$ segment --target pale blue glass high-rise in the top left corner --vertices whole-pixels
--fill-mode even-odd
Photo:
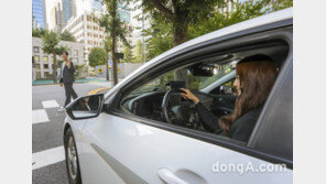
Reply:
[[[32,28],[47,29],[45,0],[32,1]]]

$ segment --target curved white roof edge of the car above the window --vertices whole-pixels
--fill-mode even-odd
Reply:
[[[269,14],[264,14],[258,18],[253,18],[207,34],[204,34],[202,36],[198,36],[196,39],[193,39],[191,41],[187,41],[183,44],[180,44],[162,54],[160,54],[159,56],[152,58],[151,61],[146,62],[145,64],[143,64],[141,67],[139,67],[138,69],[135,69],[133,73],[131,73],[130,75],[128,75],[124,79],[122,79],[118,85],[115,86],[115,88],[118,88],[119,86],[121,86],[124,82],[129,80],[129,78],[131,78],[134,74],[143,71],[144,68],[151,66],[152,64],[154,64],[155,62],[175,53],[178,51],[182,51],[186,47],[189,47],[192,45],[196,45],[198,43],[202,42],[206,42],[213,39],[217,39],[217,37],[221,37],[228,34],[232,34],[236,32],[240,32],[243,30],[249,30],[249,29],[253,29],[257,26],[261,26],[261,25],[265,25],[265,24],[270,24],[270,23],[274,23],[274,22],[280,22],[283,20],[289,20],[293,18],[293,8],[287,8],[284,10],[280,10],[280,11],[275,11]],[[106,97],[110,95],[110,90],[106,94]]]

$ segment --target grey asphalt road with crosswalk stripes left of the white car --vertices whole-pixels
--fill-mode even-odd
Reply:
[[[74,89],[78,96],[88,95],[89,91],[108,86],[105,83],[74,84]],[[101,90],[99,93],[106,93]],[[51,150],[63,147],[63,121],[64,112],[57,112],[58,107],[65,101],[65,91],[58,85],[44,85],[32,87],[33,102],[33,122],[32,122],[32,152],[33,160],[37,154],[40,164],[44,160],[42,167],[32,171],[33,184],[67,184],[67,174],[65,162],[61,159],[58,162],[51,160]],[[46,107],[46,101],[51,107]],[[54,107],[55,106],[55,107]],[[42,116],[39,112],[43,112]],[[46,119],[47,118],[47,119]],[[43,120],[44,119],[44,120]],[[46,158],[46,153],[50,154]],[[62,154],[62,151],[59,151]],[[53,155],[55,158],[57,155]],[[40,159],[41,158],[41,159]],[[62,158],[62,155],[59,155]],[[35,166],[34,165],[34,166]]]

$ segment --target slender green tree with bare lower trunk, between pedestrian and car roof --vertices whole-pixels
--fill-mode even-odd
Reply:
[[[116,47],[117,41],[120,39],[124,44],[129,45],[126,33],[127,30],[123,28],[123,22],[121,22],[118,13],[118,3],[122,4],[128,2],[127,0],[102,0],[101,3],[107,8],[107,14],[104,14],[101,18],[97,19],[100,26],[106,29],[107,35],[111,37],[110,51],[112,56],[113,64],[113,84],[118,84],[118,61],[116,58]],[[107,69],[108,71],[108,69]]]

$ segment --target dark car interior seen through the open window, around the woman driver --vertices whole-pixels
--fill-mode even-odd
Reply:
[[[264,54],[275,62],[280,71],[289,50],[285,42],[273,41],[195,61],[134,88],[121,100],[120,110],[157,121],[157,123],[171,123],[211,132],[213,130],[200,125],[195,105],[184,99],[178,88],[191,89],[200,102],[217,117],[230,115],[237,99],[232,85],[237,62],[254,54]],[[175,79],[174,74],[177,69],[186,72],[186,77],[182,80]]]

